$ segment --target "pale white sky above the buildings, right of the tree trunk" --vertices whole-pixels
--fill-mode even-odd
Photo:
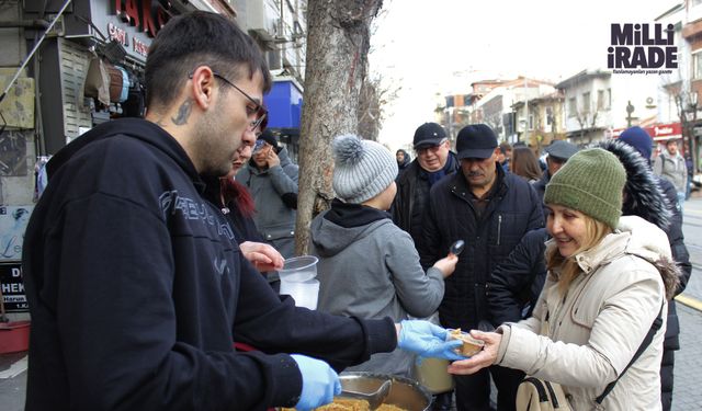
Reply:
[[[682,0],[385,0],[374,21],[371,76],[399,90],[380,140],[411,145],[438,96],[471,82],[528,76],[558,82],[605,68],[612,23],[654,23]]]

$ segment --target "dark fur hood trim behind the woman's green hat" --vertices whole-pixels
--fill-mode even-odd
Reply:
[[[635,148],[619,140],[601,141],[596,147],[616,156],[626,170],[623,215],[638,216],[667,230],[671,218],[670,205],[648,161]]]

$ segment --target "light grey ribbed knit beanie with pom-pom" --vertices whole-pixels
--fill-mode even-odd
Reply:
[[[373,198],[397,176],[397,160],[382,145],[354,135],[338,136],[331,144],[335,156],[333,191],[346,203]]]

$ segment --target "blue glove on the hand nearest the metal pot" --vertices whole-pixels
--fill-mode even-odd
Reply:
[[[341,393],[339,376],[329,364],[301,354],[291,355],[303,375],[303,392],[295,409],[307,411],[333,401]]]

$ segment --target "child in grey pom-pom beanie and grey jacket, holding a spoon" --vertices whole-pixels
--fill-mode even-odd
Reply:
[[[353,135],[335,138],[332,149],[337,198],[310,228],[310,253],[319,258],[317,310],[394,321],[431,316],[457,258],[424,273],[411,237],[385,212],[397,192],[389,150]],[[409,376],[412,363],[411,354],[395,350],[348,369]]]

